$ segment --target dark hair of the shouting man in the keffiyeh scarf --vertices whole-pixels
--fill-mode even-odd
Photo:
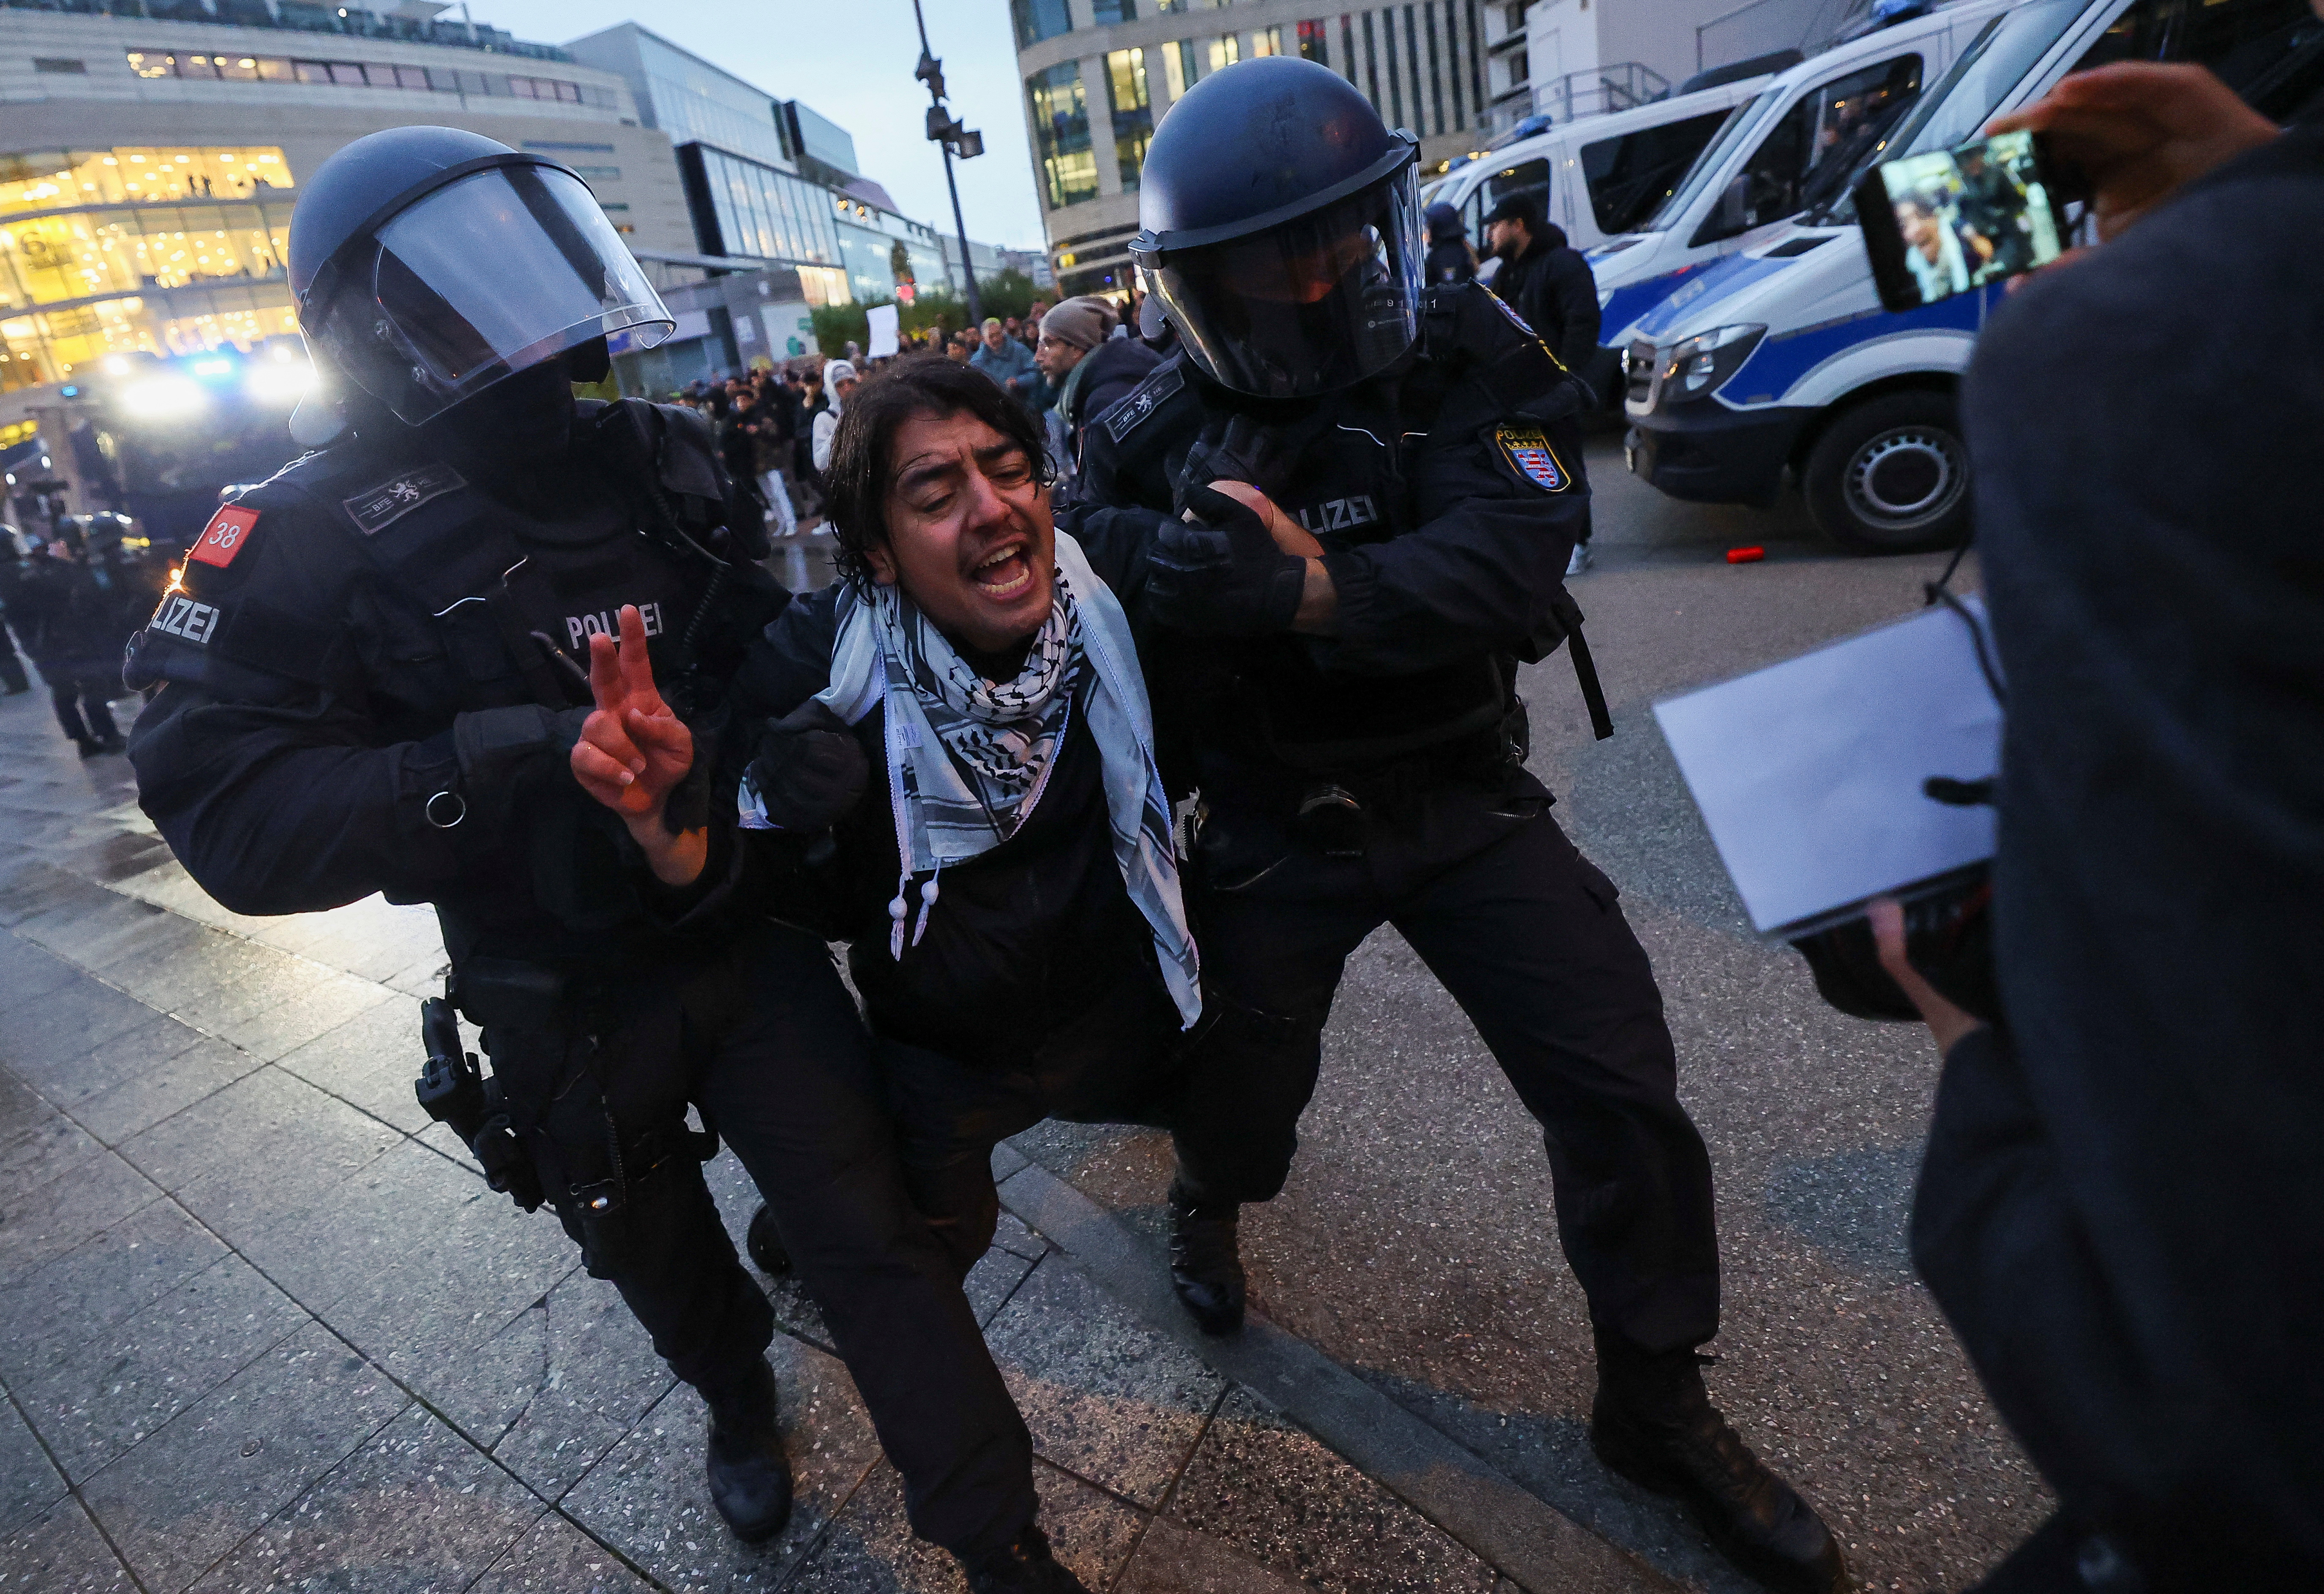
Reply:
[[[855,388],[839,411],[832,435],[832,467],[823,472],[823,497],[839,544],[839,574],[869,586],[865,548],[888,541],[888,486],[895,479],[895,435],[913,416],[971,414],[1013,441],[1032,460],[1041,486],[1055,479],[1041,421],[974,365],[920,353],[897,360]]]

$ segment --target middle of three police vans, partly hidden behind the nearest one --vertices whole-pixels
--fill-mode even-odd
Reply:
[[[1957,0],[1908,14],[1771,79],[1634,232],[1590,251],[1599,342],[1629,328],[1720,260],[1845,195],[1848,177],[1952,67],[1978,30],[2022,0]]]

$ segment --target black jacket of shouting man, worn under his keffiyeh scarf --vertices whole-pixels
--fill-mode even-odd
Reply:
[[[1113,588],[1141,644],[1146,541],[1157,516],[1113,509],[1067,511],[1097,576]],[[839,588],[786,609],[751,651],[734,688],[734,723],[746,734],[790,713],[832,681]],[[1143,653],[1143,646],[1141,646]],[[1088,676],[1085,676],[1088,678]],[[1041,1043],[1125,981],[1160,985],[1153,932],[1122,888],[1113,860],[1097,741],[1078,704],[1039,802],[990,853],[941,871],[927,932],[920,883],[906,892],[911,918],[902,960],[888,953],[888,902],[897,895],[895,816],[888,806],[885,711],[855,725],[871,781],[862,802],[832,827],[837,853],[809,867],[806,839],[744,832],[737,892],[760,911],[834,941],[848,941],[848,969],[874,1029],[981,1067],[1002,1067]],[[720,783],[732,790],[732,783]]]

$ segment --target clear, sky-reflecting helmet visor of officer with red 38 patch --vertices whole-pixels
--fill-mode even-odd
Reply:
[[[546,165],[446,184],[335,265],[311,335],[407,425],[593,337],[676,328],[588,186]]]

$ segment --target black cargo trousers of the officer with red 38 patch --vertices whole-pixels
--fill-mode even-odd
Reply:
[[[674,978],[583,992],[562,1025],[488,1022],[486,1048],[567,1234],[679,1378],[716,1385],[774,1338],[688,1143],[695,1104],[772,1208],[913,1529],[957,1554],[1023,1534],[1032,1438],[904,1190],[869,1036],[823,941],[753,925]],[[609,1180],[623,1199],[600,1215]]]

